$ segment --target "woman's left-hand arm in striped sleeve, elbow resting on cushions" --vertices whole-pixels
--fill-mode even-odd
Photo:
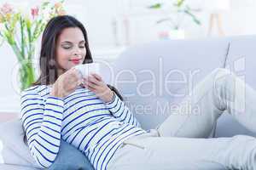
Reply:
[[[21,121],[29,150],[41,167],[49,167],[61,143],[61,122],[64,102],[49,96],[44,100],[36,90],[21,94]]]

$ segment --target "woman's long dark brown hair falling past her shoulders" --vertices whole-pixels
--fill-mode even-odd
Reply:
[[[58,78],[57,72],[57,62],[55,58],[55,48],[58,37],[65,28],[76,27],[79,28],[84,34],[86,55],[83,64],[92,63],[93,59],[91,57],[89,42],[87,37],[87,31],[85,30],[83,24],[70,15],[56,16],[49,20],[46,27],[44,28],[42,41],[41,41],[41,51],[39,56],[39,69],[40,75],[36,82],[32,83],[32,86],[36,85],[49,85],[53,84]],[[119,91],[113,86],[108,85],[108,88],[113,90],[115,94],[119,96],[119,99],[123,100]],[[26,142],[26,135],[24,136],[24,142]]]

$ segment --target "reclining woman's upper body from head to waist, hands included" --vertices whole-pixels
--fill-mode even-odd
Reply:
[[[41,75],[21,96],[27,143],[41,167],[55,161],[64,139],[90,156],[94,167],[104,169],[122,141],[145,132],[130,112],[117,111],[123,103],[101,77],[93,75],[89,80],[96,84],[84,80],[80,87],[73,66],[90,62],[84,26],[71,16],[49,20],[42,37]]]

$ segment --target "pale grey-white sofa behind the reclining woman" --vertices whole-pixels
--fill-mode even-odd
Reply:
[[[180,102],[189,88],[217,67],[229,68],[241,78],[245,77],[246,82],[256,89],[256,78],[253,76],[256,71],[255,44],[256,36],[150,42],[129,48],[120,54],[113,65],[104,65],[102,76],[105,82],[113,84],[125,96],[126,104],[142,126],[145,129],[154,128],[171,114],[165,110],[165,105]],[[21,147],[20,128],[20,124],[14,124],[14,128],[1,136],[16,135],[13,142]],[[221,116],[216,128],[212,129],[214,137],[235,134],[256,136],[241,127],[229,114]],[[24,149],[24,145],[22,147],[25,150],[23,158],[17,156],[17,159],[23,159],[21,164],[28,167],[18,169],[35,169],[31,156],[27,155],[28,150]],[[17,155],[11,152],[13,150],[3,153],[6,163],[12,163],[10,155]],[[15,167],[0,165],[0,169]]]

